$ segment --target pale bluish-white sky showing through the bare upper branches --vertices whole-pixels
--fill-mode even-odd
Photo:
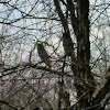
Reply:
[[[12,0],[13,1],[13,3],[14,3],[14,1],[16,1],[16,0]],[[22,11],[24,11],[25,13],[26,12],[30,12],[30,10],[31,10],[31,7],[33,7],[33,6],[30,6],[29,7],[29,3],[30,4],[32,4],[32,2],[34,2],[34,1],[37,1],[37,0],[28,0],[26,2],[25,2],[25,0],[18,0],[18,2],[19,3],[21,3],[21,6],[22,6]],[[48,2],[48,0],[45,0],[46,2]],[[90,4],[92,3],[92,4],[95,4],[95,1],[96,0],[90,0]],[[102,1],[105,1],[105,0],[97,0],[97,2],[96,2],[96,4],[100,4],[100,3],[102,3]],[[108,3],[110,3],[110,1],[109,0],[106,0]],[[18,3],[16,2],[16,3]],[[21,7],[21,6],[19,6],[19,7]],[[26,6],[25,8],[24,8],[24,6]],[[46,16],[47,15],[47,13],[45,12],[45,11],[42,11],[42,8],[43,8],[44,6],[43,6],[43,2],[41,2],[41,4],[37,4],[37,7],[35,8],[35,10],[37,10],[36,12],[35,12],[35,10],[34,11],[32,11],[32,13],[35,13],[34,15],[35,16]],[[105,6],[103,8],[106,8],[107,6]],[[19,12],[19,11],[16,11],[16,10],[14,10],[14,11],[12,11],[12,8],[10,8],[11,9],[11,11],[6,11],[8,9],[8,7],[3,7],[2,4],[0,4],[0,21],[2,21],[1,19],[6,19],[7,20],[7,15],[9,15],[8,16],[8,19],[9,20],[14,20],[14,19],[18,19],[18,18],[21,18],[21,12]],[[103,10],[103,9],[102,9]],[[95,11],[94,13],[91,13],[92,14],[92,21],[94,20],[96,20],[96,18],[100,14],[100,12],[102,11],[101,9],[99,10],[99,12],[98,11]],[[6,12],[3,12],[3,11],[6,11]],[[108,10],[108,16],[110,16],[110,13],[109,13],[109,10]],[[108,22],[109,22],[109,19],[108,19],[108,16],[105,16],[105,14],[102,14],[101,15],[101,19],[98,19],[98,21],[97,22],[95,22],[95,24],[96,25],[92,25],[92,28],[91,28],[91,42],[94,42],[94,41],[96,41],[97,40],[97,37],[96,36],[98,36],[98,38],[103,38],[103,36],[106,37],[106,40],[107,40],[107,44],[108,43],[110,43],[110,28],[108,26]],[[18,36],[21,36],[22,34],[24,34],[25,35],[25,33],[29,33],[29,34],[31,34],[31,35],[29,35],[29,36],[31,36],[31,37],[26,37],[26,38],[24,38],[24,40],[26,40],[26,42],[28,43],[30,43],[30,41],[31,41],[31,38],[33,37],[34,40],[35,40],[35,37],[37,38],[37,37],[41,37],[41,40],[42,41],[44,41],[45,38],[47,38],[47,37],[45,37],[45,36],[47,36],[47,34],[51,34],[51,35],[53,35],[53,37],[55,36],[54,35],[54,33],[56,33],[56,32],[58,32],[57,34],[59,34],[61,33],[61,28],[59,28],[59,25],[56,25],[56,24],[58,24],[58,23],[55,23],[55,22],[50,22],[48,24],[46,24],[45,22],[44,22],[45,20],[30,20],[30,19],[26,19],[26,20],[21,20],[21,21],[19,21],[19,22],[15,22],[15,23],[13,23],[14,25],[16,25],[16,26],[21,26],[21,28],[23,28],[23,26],[28,26],[28,29],[30,29],[30,30],[24,30],[24,31],[20,31],[20,29],[18,29],[18,28],[15,28],[15,26],[9,26],[9,34],[12,34],[12,33],[16,33],[18,31],[20,31],[20,32],[18,32],[18,34],[16,35],[13,35],[12,36],[12,38],[15,38],[15,37],[18,37]],[[41,23],[40,23],[41,22]],[[98,22],[99,22],[99,24],[100,23],[102,23],[103,25],[102,26],[99,26],[99,24],[98,24]],[[36,24],[34,24],[34,23],[36,23]],[[30,26],[29,26],[30,25]],[[46,26],[45,26],[46,25]],[[48,29],[48,25],[51,25],[51,32],[53,32],[53,33],[50,33],[50,31],[46,33],[45,32],[45,30],[46,29]],[[98,28],[99,26],[99,28]],[[33,30],[33,29],[35,29],[35,30]],[[2,26],[0,25],[0,30],[2,30]],[[28,36],[28,35],[26,35]],[[59,36],[59,35],[58,35]],[[25,36],[24,36],[25,37]],[[44,38],[45,37],[45,38]],[[48,37],[50,37],[50,35],[48,35]],[[56,37],[56,36],[55,36]],[[51,41],[53,41],[54,43],[56,43],[57,42],[57,38],[55,40],[55,37],[53,38],[53,40],[51,40]],[[109,41],[109,42],[108,42]],[[24,42],[25,43],[25,47],[23,47],[23,44],[21,44],[21,48],[22,50],[24,50],[25,51],[25,53],[28,53],[29,52],[29,50],[31,50],[30,48],[30,45],[28,45],[28,43],[26,42]],[[11,44],[11,43],[10,43]],[[14,44],[14,43],[12,43],[12,44]],[[31,43],[30,43],[31,44]],[[14,44],[15,45],[15,44]],[[91,50],[94,50],[94,45],[91,46]],[[14,50],[15,48],[13,48],[13,52],[14,52]],[[98,51],[97,51],[98,52]],[[24,53],[24,52],[23,52]],[[99,53],[99,52],[98,52]],[[18,55],[18,54],[16,54]],[[95,54],[94,54],[95,55]],[[20,56],[20,55],[19,55]],[[96,54],[96,56],[97,56],[97,54]],[[23,59],[25,59],[25,57],[26,57],[26,54],[23,54]]]

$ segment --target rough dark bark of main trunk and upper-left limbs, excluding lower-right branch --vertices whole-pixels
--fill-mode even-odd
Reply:
[[[61,0],[64,1],[64,0]],[[54,0],[56,11],[59,15],[65,33],[70,37],[67,19],[64,16],[59,6],[59,0]],[[91,74],[90,62],[90,41],[89,41],[89,0],[77,0],[77,10],[72,0],[65,3],[70,13],[72,26],[77,40],[77,62],[72,63],[72,70],[75,76],[75,88],[77,91],[77,110],[85,110],[91,106],[92,94],[96,89],[95,78]],[[77,14],[75,13],[77,11]],[[72,38],[72,37],[70,37]],[[73,48],[74,50],[74,48]],[[73,57],[72,57],[73,59]],[[73,61],[72,61],[73,62]],[[75,109],[76,110],[76,109]]]

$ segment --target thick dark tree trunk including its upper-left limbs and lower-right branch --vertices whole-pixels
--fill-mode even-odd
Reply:
[[[70,55],[77,102],[76,105],[69,107],[69,109],[105,110],[106,103],[109,102],[110,99],[110,97],[106,97],[107,95],[109,96],[110,92],[110,69],[108,70],[108,77],[106,77],[103,87],[100,88],[96,94],[97,85],[89,66],[89,0],[75,0],[75,3],[73,0],[54,0],[54,4],[64,28],[64,33],[67,35],[65,36],[65,40],[69,40],[68,43],[73,42],[70,36],[70,29],[68,26],[69,19],[77,41],[77,55],[75,56],[75,53]],[[69,13],[69,18],[64,14],[64,10],[62,10],[61,4],[65,6],[67,13]],[[69,45],[66,43],[64,43],[65,45],[63,46]],[[74,52],[73,46],[70,50]],[[102,101],[103,99],[105,101]]]

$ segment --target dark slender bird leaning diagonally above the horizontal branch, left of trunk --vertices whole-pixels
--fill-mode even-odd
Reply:
[[[37,53],[42,62],[44,62],[48,67],[51,67],[50,56],[43,45],[43,43],[37,43]]]

